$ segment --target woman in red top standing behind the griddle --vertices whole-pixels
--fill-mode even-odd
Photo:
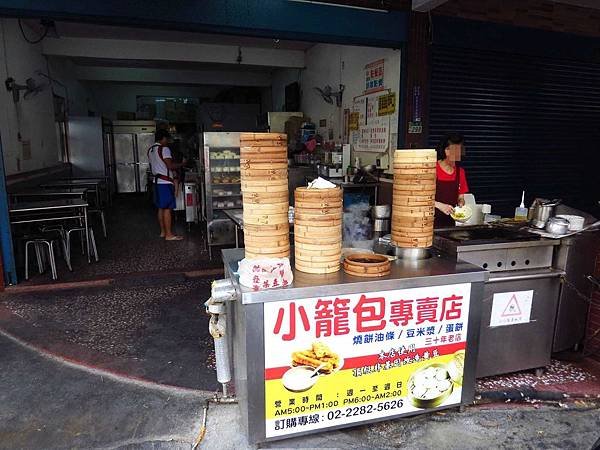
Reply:
[[[465,170],[457,165],[464,152],[464,137],[457,133],[447,134],[437,146],[435,222],[436,228],[454,226],[450,214],[454,206],[463,206],[469,192]]]

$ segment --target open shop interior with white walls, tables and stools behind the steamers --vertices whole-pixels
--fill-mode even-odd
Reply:
[[[226,152],[207,154],[222,133],[287,133],[290,192],[319,174],[352,184],[368,167],[348,201],[375,204],[378,178],[391,176],[398,49],[34,19],[2,25],[15,83],[2,94],[11,206],[86,200],[92,234],[88,252],[82,231],[64,239],[53,227],[13,223],[13,283],[220,267],[220,249],[243,245],[226,214],[241,208],[239,156],[232,153],[228,164]],[[381,95],[387,110],[373,111],[371,103],[367,111]],[[366,129],[356,122],[366,122],[365,114],[380,115],[377,145],[361,140]],[[171,135],[175,161],[188,161],[175,213],[179,242],[158,237],[152,204],[146,152],[161,128]],[[349,142],[351,154],[347,145],[343,151]],[[26,251],[32,237],[51,245]]]

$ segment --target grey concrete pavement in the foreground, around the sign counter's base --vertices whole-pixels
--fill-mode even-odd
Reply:
[[[1,449],[190,449],[209,393],[136,385],[40,356],[0,336]],[[235,405],[211,405],[200,448],[248,445]],[[279,441],[262,448],[591,449],[600,410],[492,405]]]

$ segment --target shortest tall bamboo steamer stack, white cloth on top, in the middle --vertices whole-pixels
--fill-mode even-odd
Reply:
[[[300,187],[295,191],[296,270],[333,273],[342,255],[342,190]]]

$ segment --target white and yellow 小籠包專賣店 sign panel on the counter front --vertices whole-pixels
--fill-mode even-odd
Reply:
[[[459,404],[463,365],[446,367],[464,361],[470,292],[465,283],[265,303],[266,436]]]

